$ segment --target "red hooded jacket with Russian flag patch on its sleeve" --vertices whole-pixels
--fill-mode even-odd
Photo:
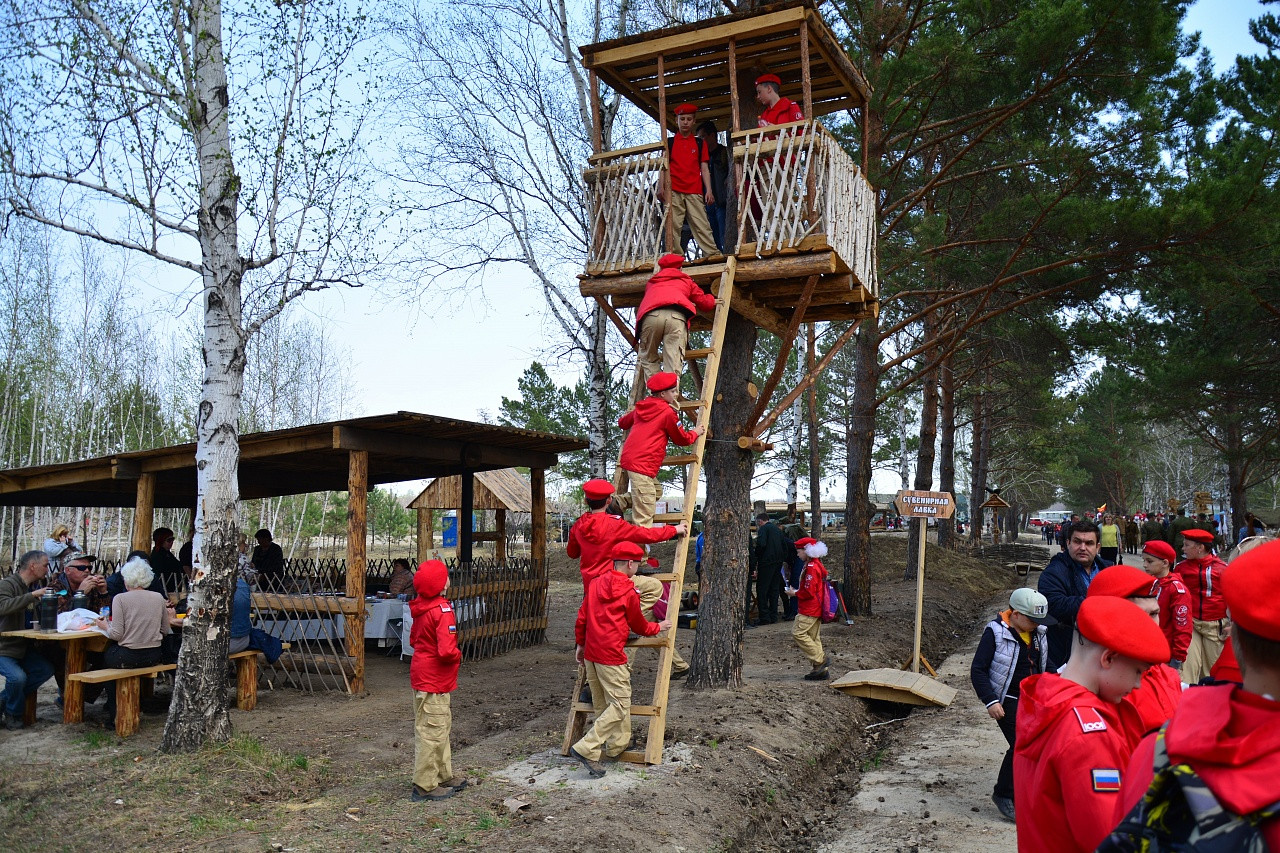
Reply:
[[[1024,679],[1014,738],[1019,853],[1097,848],[1115,826],[1130,752],[1119,706],[1056,672]]]

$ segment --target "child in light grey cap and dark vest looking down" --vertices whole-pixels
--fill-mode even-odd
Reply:
[[[1018,697],[1023,679],[1043,672],[1048,666],[1048,639],[1044,626],[1055,624],[1048,615],[1048,599],[1034,589],[1023,587],[1009,597],[1009,610],[987,624],[978,640],[969,681],[987,713],[1000,726],[1009,749],[1000,762],[991,802],[1000,813],[1014,821],[1014,742],[1018,731]]]

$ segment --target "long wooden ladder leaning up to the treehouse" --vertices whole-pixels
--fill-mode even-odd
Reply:
[[[733,273],[737,269],[737,259],[730,255],[724,259],[724,272],[721,273],[719,283],[716,286],[716,314],[712,319],[710,346],[700,350],[686,350],[686,361],[704,361],[701,397],[695,401],[684,401],[678,406],[681,411],[696,410],[698,425],[703,428],[703,434],[698,437],[694,447],[687,453],[667,456],[663,465],[689,466],[685,478],[685,505],[680,512],[659,512],[653,516],[654,523],[684,521],[687,532],[692,532],[694,502],[698,498],[698,478],[703,470],[703,451],[707,446],[707,428],[710,424],[712,401],[716,400],[716,378],[719,375],[719,356],[724,345],[724,327],[728,323],[728,313],[733,300]],[[677,538],[676,558],[669,573],[650,575],[655,580],[671,584],[667,613],[672,617],[671,630],[666,635],[640,637],[627,643],[627,648],[657,648],[658,674],[653,688],[653,704],[632,704],[631,717],[649,717],[649,733],[645,740],[644,752],[627,751],[620,757],[621,761],[634,763],[660,765],[662,747],[667,736],[667,694],[671,689],[671,662],[676,651],[676,629],[680,617],[680,596],[685,585],[685,565],[689,562],[689,546],[692,535]],[[586,671],[577,669],[577,679],[573,684],[573,697],[568,713],[568,724],[564,726],[564,743],[561,754],[567,756],[572,747],[586,729],[586,717],[594,708],[590,702],[579,702],[582,685],[586,683]]]

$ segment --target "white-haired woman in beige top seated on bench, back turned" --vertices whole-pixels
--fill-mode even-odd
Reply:
[[[154,576],[151,565],[141,557],[133,557],[120,569],[124,592],[111,601],[111,621],[97,620],[111,639],[102,654],[105,666],[132,670],[160,662],[161,643],[178,621],[169,599],[147,589]],[[108,690],[106,719],[115,720],[114,683]]]

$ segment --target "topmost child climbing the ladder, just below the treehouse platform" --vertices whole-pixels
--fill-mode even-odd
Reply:
[[[640,401],[645,383],[659,370],[680,375],[685,369],[689,324],[699,311],[716,310],[716,297],[689,278],[681,269],[684,263],[684,255],[659,257],[658,272],[645,284],[644,298],[636,309],[637,361],[631,383],[632,403]]]

